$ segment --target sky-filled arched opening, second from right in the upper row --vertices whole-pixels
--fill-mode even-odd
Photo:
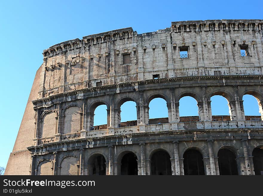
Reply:
[[[210,98],[213,121],[230,121],[231,109],[227,98],[214,95]]]

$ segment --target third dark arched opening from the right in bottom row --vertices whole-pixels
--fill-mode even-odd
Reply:
[[[195,149],[184,152],[184,175],[204,175],[202,154]]]

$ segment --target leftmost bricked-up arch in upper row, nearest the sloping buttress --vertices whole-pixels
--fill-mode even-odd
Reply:
[[[58,113],[56,110],[45,110],[41,114],[40,138],[51,137],[56,134]]]

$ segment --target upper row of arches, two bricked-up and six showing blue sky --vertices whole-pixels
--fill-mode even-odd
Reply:
[[[246,91],[245,93],[246,95],[244,95],[243,97],[250,96],[250,101],[244,99],[245,100],[244,107],[246,107],[248,110],[250,110],[251,108],[255,108],[253,111],[257,111],[257,110],[259,111],[253,113],[254,117],[249,118],[249,120],[250,119],[261,120],[263,118],[262,101],[260,101],[262,100],[261,95],[258,92],[253,92],[253,91]],[[178,116],[180,118],[178,119],[178,122],[189,121],[190,118],[189,119],[187,118],[186,120],[183,121],[182,120],[183,118],[181,118],[183,116],[195,116],[193,121],[202,121],[201,116],[199,114],[199,112],[200,111],[202,112],[203,110],[202,104],[199,103],[201,98],[197,94],[189,91],[181,93],[180,95],[178,95],[178,97],[180,99],[178,100],[178,102],[175,102],[175,107],[178,107]],[[232,95],[230,95],[225,91],[216,91],[210,94],[208,97],[209,97],[208,100],[210,101],[207,101],[207,105],[208,105],[208,110],[210,110],[211,112],[211,115],[220,115],[219,116],[220,118],[213,116],[209,117],[211,118],[212,121],[234,119],[232,113],[233,110],[236,109],[234,108],[236,107],[236,105],[235,103],[233,103],[233,100],[235,98],[233,98]],[[220,99],[218,99],[219,97],[221,98],[221,101]],[[186,99],[185,102],[184,99]],[[240,109],[241,111],[244,112],[243,101],[239,101],[239,102],[240,102]],[[225,107],[225,112],[222,114],[213,113],[215,111],[213,107],[216,106],[217,108],[215,108],[215,110]],[[63,129],[60,130],[60,133],[62,134],[75,133],[82,130],[83,128],[82,125],[83,123],[85,123],[82,107],[80,107],[77,104],[71,103],[70,105],[68,105],[67,107],[61,110],[62,112],[60,115],[56,109],[45,110],[44,112],[41,113],[39,117],[41,118],[40,119],[41,125],[39,128],[40,130],[37,133],[37,135],[39,135],[38,136],[39,138],[45,138],[55,135],[57,132],[59,132],[58,125],[60,127],[63,126]],[[93,103],[88,104],[86,110],[88,111],[85,112],[86,118],[88,118],[86,119],[86,121],[88,122],[87,123],[88,127],[86,128],[86,130],[106,129],[107,127],[109,127],[111,113],[114,113],[114,121],[115,121],[114,125],[111,126],[114,127],[127,126],[127,125],[134,126],[141,123],[140,99],[135,99],[130,96],[125,96],[124,98],[121,98],[120,101],[117,102],[117,104],[114,104],[114,108],[112,109],[107,101],[97,100],[94,101]],[[114,111],[111,112],[111,110]],[[121,110],[123,110],[123,112]],[[226,111],[228,111],[228,114]],[[153,93],[150,96],[150,98],[147,99],[147,104],[144,105],[143,112],[145,113],[144,114],[146,119],[145,124],[158,124],[158,123],[170,122],[169,115],[171,116],[171,103],[169,101],[169,98],[167,97],[167,95],[164,95],[163,93]],[[252,115],[252,114],[248,114],[248,115]],[[225,116],[226,118],[224,118],[223,116]],[[159,119],[158,121],[155,121],[155,120],[151,120],[150,118],[166,118],[166,119],[162,119],[162,120]],[[122,125],[121,122],[123,122],[123,119],[125,119],[124,121],[134,121],[134,122],[130,122],[126,124],[124,123],[124,125]],[[95,126],[97,125],[105,125],[105,126],[100,126],[96,128]]]

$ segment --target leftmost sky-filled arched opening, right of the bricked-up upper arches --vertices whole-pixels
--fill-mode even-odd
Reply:
[[[107,129],[107,106],[101,104],[94,110],[91,130]]]

